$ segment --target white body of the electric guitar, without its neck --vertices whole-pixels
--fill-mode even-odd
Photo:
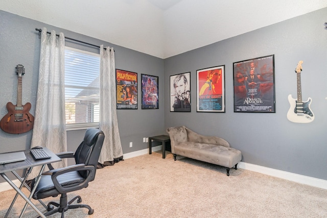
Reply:
[[[310,123],[315,119],[314,114],[310,108],[311,98],[302,104],[297,104],[297,99],[293,99],[292,95],[288,95],[290,109],[287,112],[287,118],[293,123]]]

